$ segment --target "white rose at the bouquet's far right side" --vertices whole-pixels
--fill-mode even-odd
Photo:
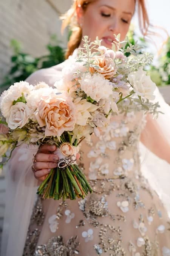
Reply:
[[[128,75],[128,80],[133,86],[133,90],[139,96],[143,96],[147,99],[154,100],[155,95],[153,94],[156,85],[152,82],[150,76],[146,75],[146,71],[139,68],[138,71],[131,72]]]

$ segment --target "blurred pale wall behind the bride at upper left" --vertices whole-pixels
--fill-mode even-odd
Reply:
[[[34,57],[46,54],[50,36],[56,34],[66,45],[66,33],[60,33],[60,14],[71,0],[2,0],[0,1],[0,83],[10,68],[11,39],[22,43],[23,51]]]

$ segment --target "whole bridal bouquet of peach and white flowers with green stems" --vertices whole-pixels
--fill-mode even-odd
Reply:
[[[158,103],[149,101],[154,99],[155,83],[143,71],[152,56],[136,55],[138,46],[125,47],[128,39],[120,42],[119,38],[113,49],[107,49],[97,38],[90,42],[85,36],[77,57],[65,61],[62,78],[54,88],[44,82],[32,86],[21,81],[2,93],[2,157],[22,143],[57,146],[57,168],[51,170],[37,191],[44,199],[73,200],[92,192],[76,164],[76,154],[84,138],[92,133],[100,136],[110,122],[111,112],[117,115],[135,106],[157,113]],[[126,57],[127,52],[132,54]],[[128,104],[122,104],[127,98]]]

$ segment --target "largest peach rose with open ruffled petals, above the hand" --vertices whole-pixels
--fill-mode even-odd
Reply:
[[[72,131],[76,123],[76,108],[70,99],[55,95],[42,99],[34,113],[40,127],[45,126],[45,136],[60,137]]]

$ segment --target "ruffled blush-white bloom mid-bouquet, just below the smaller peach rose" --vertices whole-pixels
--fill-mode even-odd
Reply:
[[[108,99],[113,93],[113,86],[109,80],[105,79],[99,73],[94,73],[92,76],[89,73],[83,74],[79,83],[82,91],[97,102],[99,102],[100,99]]]

